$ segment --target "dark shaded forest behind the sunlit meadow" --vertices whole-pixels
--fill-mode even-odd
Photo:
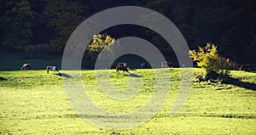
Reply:
[[[212,42],[232,61],[256,66],[256,3],[253,0],[0,0],[0,48],[20,53],[57,53],[83,20],[107,8],[151,8],[177,25],[190,49]],[[102,33],[115,39],[136,36],[175,54],[154,31],[118,25]]]

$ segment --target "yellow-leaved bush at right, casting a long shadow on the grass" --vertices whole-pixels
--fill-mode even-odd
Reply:
[[[218,55],[217,47],[207,43],[205,48],[199,51],[189,50],[190,58],[205,70],[206,80],[226,80],[229,77],[230,59],[225,59]]]

